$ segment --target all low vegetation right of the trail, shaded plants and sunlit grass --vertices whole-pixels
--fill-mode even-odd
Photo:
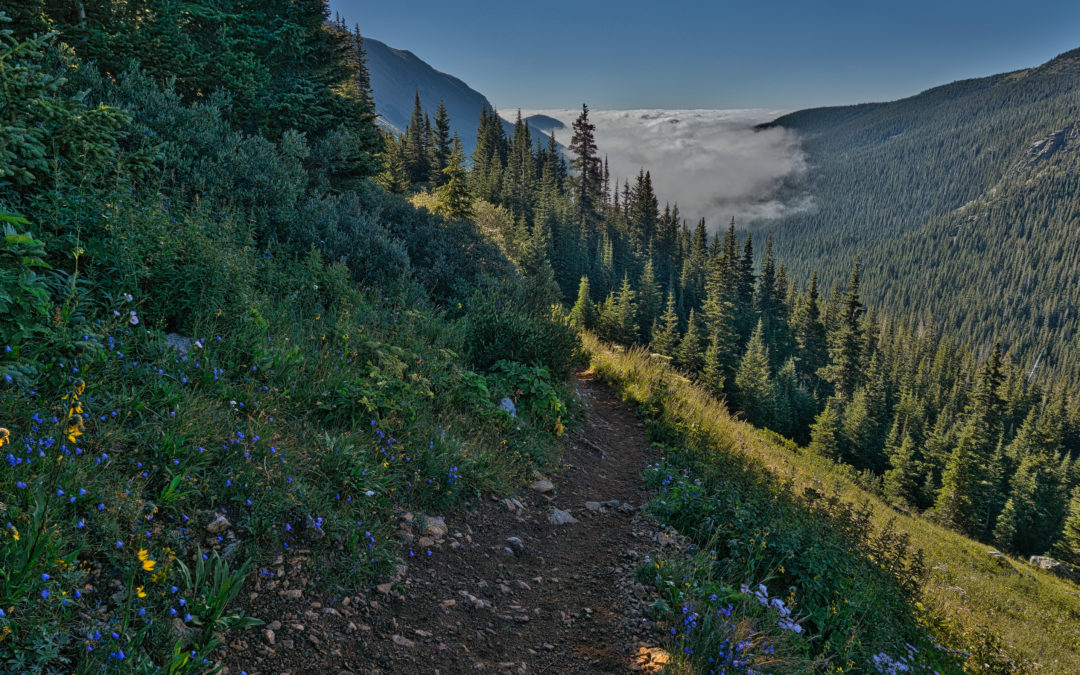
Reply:
[[[889,664],[926,664],[928,656],[930,663],[945,661],[933,667],[974,673],[1080,669],[1074,584],[893,510],[850,469],[731,418],[645,350],[611,349],[593,338],[586,347],[593,369],[640,406],[664,449],[653,478],[662,492],[650,508],[701,551],[658,564],[670,572],[647,575],[681,626],[675,639],[688,666],[707,672],[725,636],[754,642],[718,631],[723,624],[707,618],[729,604],[718,604],[715,593],[732,596],[732,584],[760,581],[813,631],[814,652],[833,657],[815,665],[796,661],[796,672],[863,672],[875,664],[878,672],[906,672]],[[831,540],[836,532],[843,534],[839,542]],[[704,617],[700,625],[684,623],[687,607]],[[917,634],[916,626],[957,651],[931,647],[927,654],[908,633],[917,651],[893,637],[885,640],[889,659],[874,660],[882,633]],[[760,659],[759,645],[745,658]],[[929,666],[915,672],[920,667]]]

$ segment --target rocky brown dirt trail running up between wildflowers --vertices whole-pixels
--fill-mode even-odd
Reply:
[[[448,514],[445,534],[429,523],[428,539],[417,519],[416,557],[368,597],[319,598],[302,578],[302,556],[281,561],[294,581],[256,579],[244,607],[279,619],[230,644],[229,672],[651,670],[649,659],[654,665],[662,653],[643,647],[653,626],[642,618],[644,589],[632,579],[658,546],[656,525],[636,509],[647,499],[640,472],[650,448],[640,421],[589,374],[578,389],[589,421],[568,434],[563,464],[550,476],[554,489],[524,488],[516,503]],[[555,509],[578,522],[553,524]]]

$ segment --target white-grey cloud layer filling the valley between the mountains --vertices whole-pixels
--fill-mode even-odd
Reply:
[[[651,172],[664,202],[678,203],[688,219],[704,217],[710,229],[734,217],[741,226],[810,207],[807,197],[782,201],[785,178],[806,171],[794,132],[754,131],[778,110],[591,110],[600,153],[612,176],[633,185],[640,168]],[[580,110],[529,110],[566,124],[556,138],[569,145]],[[516,114],[516,111],[514,111]]]

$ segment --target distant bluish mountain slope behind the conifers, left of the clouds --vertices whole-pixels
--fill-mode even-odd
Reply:
[[[436,70],[413,52],[394,49],[374,38],[364,38],[364,49],[375,91],[375,107],[386,124],[403,131],[408,125],[419,92],[420,105],[433,117],[438,102],[446,104],[453,130],[461,136],[465,153],[472,154],[481,110],[495,110],[486,96],[458,78]],[[503,125],[508,134],[513,132],[512,124],[504,121]],[[548,127],[531,127],[534,135],[550,133]]]

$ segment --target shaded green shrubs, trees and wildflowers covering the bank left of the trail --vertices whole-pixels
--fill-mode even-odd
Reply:
[[[55,4],[0,16],[0,670],[206,672],[273,556],[362,586],[549,461],[578,340],[368,179],[322,2]]]

